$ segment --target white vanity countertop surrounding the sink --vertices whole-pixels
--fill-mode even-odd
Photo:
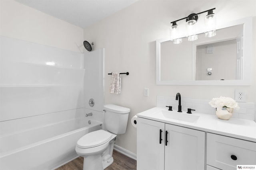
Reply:
[[[244,139],[247,141],[256,142],[256,122],[245,119],[237,119],[230,118],[229,120],[218,119],[216,115],[208,115],[202,113],[194,113],[192,114],[186,113],[186,111],[182,111],[182,113],[177,112],[176,110],[170,111],[170,114],[178,113],[178,114],[186,114],[186,115],[198,115],[199,119],[194,122],[186,122],[180,121],[176,119],[169,119],[164,116],[156,116],[155,113],[161,110],[167,110],[162,107],[153,107],[152,109],[148,109],[141,113],[138,113],[138,117],[151,119],[155,121],[160,121],[164,123],[169,123],[172,125],[178,125],[182,127],[188,127],[191,129],[197,129],[200,131],[206,131],[210,133],[216,133],[219,135],[225,135],[228,137],[234,137],[238,139]]]

